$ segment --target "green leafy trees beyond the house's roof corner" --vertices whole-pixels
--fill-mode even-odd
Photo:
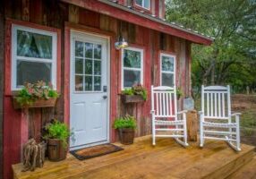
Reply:
[[[192,86],[230,84],[256,90],[254,0],[166,0],[166,19],[214,37],[210,47],[192,45]]]

